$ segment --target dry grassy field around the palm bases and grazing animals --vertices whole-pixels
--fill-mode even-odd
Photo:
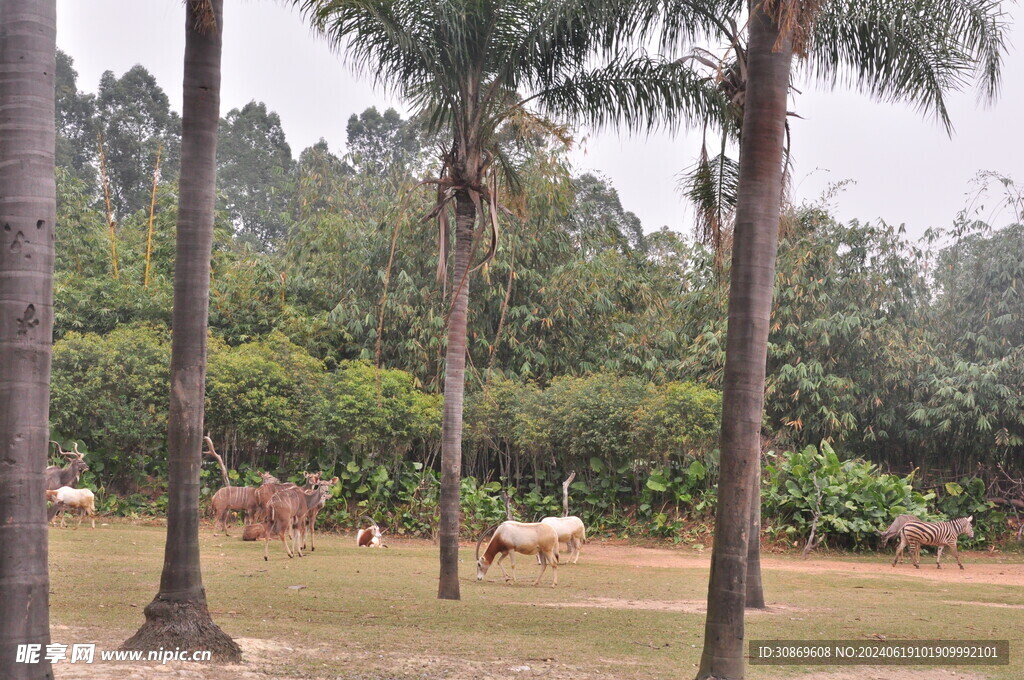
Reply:
[[[591,543],[580,564],[559,569],[552,589],[530,587],[537,567],[522,557],[517,585],[502,583],[497,567],[477,583],[473,546],[467,546],[463,599],[442,602],[435,599],[437,553],[429,543],[367,550],[355,548],[350,536],[324,536],[301,559],[288,559],[280,542],[271,543],[264,562],[261,542],[212,537],[208,525],[201,541],[210,608],[226,632],[246,639],[248,663],[226,675],[208,668],[188,671],[190,677],[677,680],[692,677],[699,658],[709,556],[689,550]],[[163,547],[159,526],[51,529],[54,642],[113,648],[131,635],[157,592]],[[927,559],[914,572],[909,565],[893,570],[884,555],[769,558],[764,581],[771,609],[748,617],[748,636],[1009,638],[1009,667],[914,677],[1024,677],[1024,563],[1020,557],[964,559],[967,571],[953,563],[935,580]],[[58,679],[143,677],[110,664],[55,670]],[[833,675],[827,667],[752,667],[748,677],[810,670],[815,678],[868,677]],[[879,677],[910,677],[898,668],[876,670]]]

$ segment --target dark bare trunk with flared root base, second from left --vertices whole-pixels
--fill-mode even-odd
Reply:
[[[167,544],[160,592],[125,649],[209,649],[238,662],[242,650],[210,618],[200,571],[199,471],[203,447],[206,336],[213,244],[223,0],[185,5],[177,249],[168,418]]]

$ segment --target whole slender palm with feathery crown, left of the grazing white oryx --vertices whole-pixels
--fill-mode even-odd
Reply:
[[[376,81],[425,112],[445,139],[433,214],[446,281],[455,255],[441,435],[438,597],[459,599],[459,486],[466,323],[472,272],[496,249],[499,178],[516,187],[500,141],[563,136],[557,123],[646,128],[714,115],[720,96],[686,65],[614,47],[629,3],[601,0],[294,0],[313,26]],[[596,53],[603,58],[595,60]],[[508,134],[511,133],[511,134]],[[517,134],[518,133],[518,134]],[[501,190],[507,190],[501,189]],[[476,254],[489,232],[486,253]]]

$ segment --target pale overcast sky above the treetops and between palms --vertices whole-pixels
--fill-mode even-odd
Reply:
[[[1017,5],[1005,4],[1015,17],[1024,16]],[[252,99],[265,101],[281,115],[297,157],[319,137],[343,151],[348,117],[368,107],[404,112],[400,101],[353,76],[297,11],[274,0],[224,5],[222,114]],[[95,91],[103,71],[120,76],[141,63],[180,111],[183,16],[181,0],[57,0],[57,45],[75,59],[80,89]],[[803,117],[791,121],[795,200],[814,200],[830,183],[851,179],[855,183],[834,201],[840,218],[883,218],[920,235],[949,225],[979,170],[1024,181],[1024,135],[1012,123],[1024,115],[1024,54],[1015,44],[1021,37],[1024,31],[1013,27],[995,105],[978,105],[973,91],[950,99],[952,138],[909,107],[798,83],[803,93],[791,103]],[[698,131],[584,134],[579,171],[607,176],[645,229],[690,231],[677,180],[699,148]],[[1001,215],[991,219],[1006,221]]]

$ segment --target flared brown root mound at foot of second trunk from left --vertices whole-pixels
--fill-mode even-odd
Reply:
[[[145,607],[145,623],[124,641],[122,649],[209,650],[211,661],[239,663],[242,647],[213,623],[206,604],[171,602],[158,595]]]

